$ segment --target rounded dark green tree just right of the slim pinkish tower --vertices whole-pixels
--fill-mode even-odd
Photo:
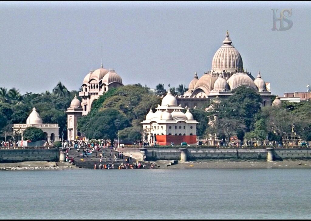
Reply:
[[[105,108],[90,119],[85,134],[89,139],[110,139],[113,143],[118,131],[129,126],[125,114],[116,108]]]

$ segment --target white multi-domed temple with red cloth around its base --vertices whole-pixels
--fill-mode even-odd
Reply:
[[[177,99],[168,91],[162,99],[161,105],[158,104],[156,112],[150,108],[146,119],[141,122],[143,133],[147,137],[147,142],[159,145],[170,145],[170,143],[187,144],[197,143],[197,121],[193,119],[189,108],[186,113],[181,112],[184,109],[177,105]]]

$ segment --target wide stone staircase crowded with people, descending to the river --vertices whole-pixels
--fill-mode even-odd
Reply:
[[[96,169],[98,169],[98,165],[100,164],[100,156],[99,154],[103,152],[103,157],[102,157],[102,164],[106,164],[106,163],[114,163],[114,169],[118,169],[119,165],[123,162],[123,164],[125,163],[125,158],[126,156],[123,156],[123,159],[118,159],[118,151],[115,151],[114,149],[109,149],[109,148],[101,148],[100,151],[95,151],[92,154],[88,154],[88,157],[82,157],[80,156],[80,154],[83,153],[83,150],[80,149],[80,152],[76,152],[77,149],[75,148],[71,148],[68,151],[69,154],[69,159],[71,157],[74,157],[75,159],[75,166],[79,167],[79,168],[86,168],[86,169],[94,169],[94,164],[96,163]],[[112,157],[111,157],[111,161],[109,160],[110,157],[110,150],[112,151]],[[97,152],[97,158],[96,156],[96,152]],[[114,160],[114,154],[117,154],[117,162]],[[105,156],[107,156],[107,161],[105,161]],[[136,162],[136,159],[132,158],[129,163],[132,164]],[[142,163],[143,165],[146,165],[146,168],[149,169],[151,167],[151,162],[143,162],[140,161],[140,163]],[[143,167],[141,167],[143,168]],[[155,168],[159,168],[159,166],[156,165]],[[111,168],[110,168],[111,169]]]

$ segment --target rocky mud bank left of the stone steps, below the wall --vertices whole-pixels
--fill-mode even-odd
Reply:
[[[0,163],[0,170],[64,170],[78,169],[66,162],[25,161],[20,163]]]

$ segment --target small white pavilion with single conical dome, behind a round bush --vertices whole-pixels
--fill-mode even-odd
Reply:
[[[58,124],[43,123],[36,108],[32,109],[29,117],[26,120],[26,124],[13,124],[13,136],[17,136],[17,140],[23,140],[24,131],[27,127],[37,127],[44,133],[44,139],[49,143],[51,141],[59,141],[58,136]]]

